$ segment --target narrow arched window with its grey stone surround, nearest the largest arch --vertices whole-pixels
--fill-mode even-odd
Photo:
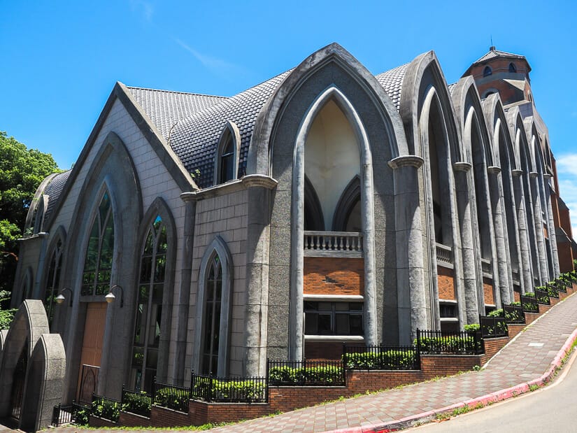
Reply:
[[[227,244],[215,236],[206,247],[199,270],[192,370],[201,374],[222,377],[229,371],[233,271]]]

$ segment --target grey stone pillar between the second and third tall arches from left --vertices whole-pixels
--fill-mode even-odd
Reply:
[[[479,293],[483,294],[483,271],[480,269],[480,240],[478,234],[474,234],[473,220],[471,218],[471,194],[469,190],[469,171],[471,164],[468,162],[455,162],[453,171],[455,176],[455,191],[457,192],[457,214],[459,216],[461,253],[462,253],[462,290],[457,290],[457,309],[459,311],[460,324],[478,323],[480,304]],[[477,218],[480,218],[477,215]],[[476,242],[475,242],[476,241]],[[455,243],[453,243],[453,255],[457,255]],[[475,248],[475,244],[477,248]],[[455,260],[453,260],[455,266]],[[455,282],[457,267],[455,266]],[[457,286],[459,288],[459,286]]]

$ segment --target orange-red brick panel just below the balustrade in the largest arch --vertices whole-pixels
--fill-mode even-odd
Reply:
[[[364,260],[304,257],[305,294],[363,294]]]

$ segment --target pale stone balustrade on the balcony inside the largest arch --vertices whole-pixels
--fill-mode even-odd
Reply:
[[[362,233],[304,232],[304,255],[362,257]]]

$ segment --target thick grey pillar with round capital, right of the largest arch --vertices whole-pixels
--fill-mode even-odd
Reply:
[[[394,170],[400,344],[411,344],[417,329],[428,327],[418,177],[422,163],[422,158],[415,155],[396,157],[389,162]]]

